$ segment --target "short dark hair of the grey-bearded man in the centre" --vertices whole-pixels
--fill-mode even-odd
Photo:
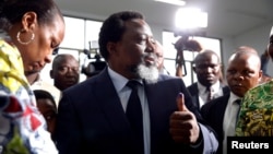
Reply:
[[[126,31],[126,22],[131,21],[134,19],[144,19],[144,16],[134,11],[123,11],[118,12],[112,15],[110,15],[100,27],[99,32],[99,52],[104,57],[104,59],[107,61],[109,54],[107,51],[107,44],[109,42],[117,43],[121,39],[124,31]]]

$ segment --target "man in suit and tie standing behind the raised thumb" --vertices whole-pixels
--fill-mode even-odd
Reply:
[[[194,58],[193,64],[198,82],[187,88],[199,109],[206,102],[229,93],[223,81],[221,61],[216,52],[210,49],[202,50]]]

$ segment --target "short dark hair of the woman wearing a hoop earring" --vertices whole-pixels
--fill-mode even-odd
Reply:
[[[0,29],[7,31],[20,22],[26,12],[35,12],[40,25],[50,24],[62,14],[54,0],[0,0]]]

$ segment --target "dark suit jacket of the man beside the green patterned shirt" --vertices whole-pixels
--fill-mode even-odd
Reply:
[[[223,122],[229,96],[230,93],[217,97],[215,99],[212,99],[211,102],[203,105],[201,108],[202,117],[216,131],[218,135],[219,146],[217,150],[217,154],[223,153],[223,140],[224,140]]]

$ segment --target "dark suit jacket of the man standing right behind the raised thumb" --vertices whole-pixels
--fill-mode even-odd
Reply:
[[[224,95],[229,94],[230,90],[227,85],[222,84],[221,86]],[[187,90],[190,92],[192,96],[192,103],[200,109],[198,83],[194,82],[193,84],[189,85]]]

